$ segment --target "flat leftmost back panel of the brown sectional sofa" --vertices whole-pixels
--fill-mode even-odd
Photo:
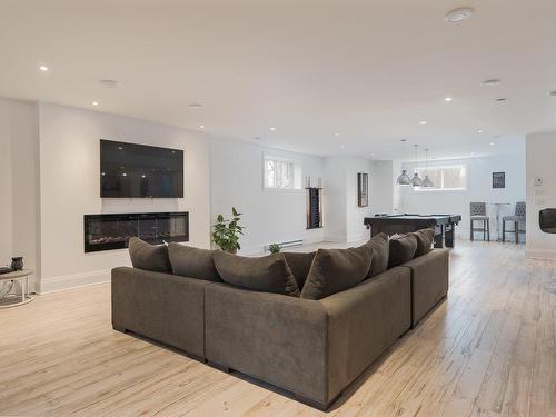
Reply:
[[[112,269],[112,326],[205,357],[208,281],[120,267]]]

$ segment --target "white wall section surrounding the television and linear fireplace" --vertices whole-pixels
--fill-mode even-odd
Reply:
[[[209,142],[202,135],[137,119],[40,103],[42,290],[109,279],[128,251],[83,252],[83,215],[189,211],[190,244],[209,247]],[[99,140],[183,149],[183,199],[101,199]]]

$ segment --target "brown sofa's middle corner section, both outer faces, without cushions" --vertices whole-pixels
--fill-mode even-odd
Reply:
[[[408,268],[319,301],[221,284],[206,292],[208,360],[325,409],[409,325]]]

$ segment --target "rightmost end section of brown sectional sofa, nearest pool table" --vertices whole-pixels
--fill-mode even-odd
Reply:
[[[411,327],[448,294],[449,251],[434,249],[401,267],[411,270]]]

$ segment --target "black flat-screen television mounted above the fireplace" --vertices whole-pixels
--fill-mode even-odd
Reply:
[[[100,197],[183,197],[183,151],[100,140]]]

